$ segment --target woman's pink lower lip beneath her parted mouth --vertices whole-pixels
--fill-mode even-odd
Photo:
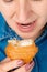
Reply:
[[[31,32],[34,30],[35,25],[36,25],[36,21],[34,21],[33,23],[31,23],[30,25],[26,25],[26,27],[17,23],[17,28],[22,32]]]

